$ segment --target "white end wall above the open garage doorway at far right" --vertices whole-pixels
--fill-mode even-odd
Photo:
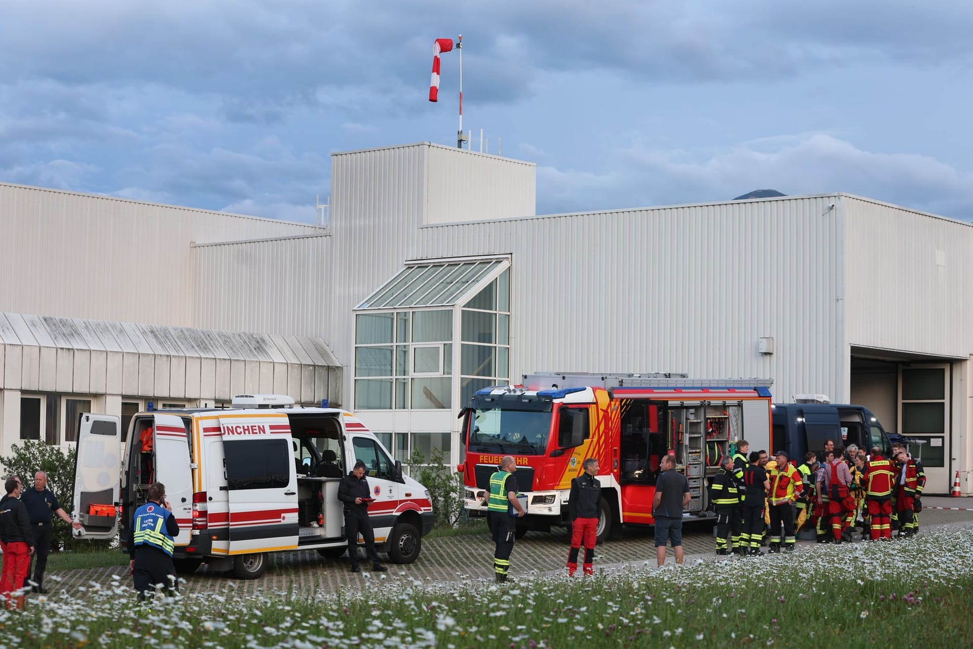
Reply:
[[[847,342],[924,354],[973,353],[973,225],[867,198],[847,214]]]

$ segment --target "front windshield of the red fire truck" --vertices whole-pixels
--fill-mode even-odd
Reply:
[[[511,398],[513,397],[513,398]],[[554,411],[550,399],[524,395],[477,395],[473,399],[470,451],[543,455]]]

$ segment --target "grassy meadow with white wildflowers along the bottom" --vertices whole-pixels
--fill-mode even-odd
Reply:
[[[516,550],[515,550],[516,554]],[[794,555],[528,575],[498,587],[365,574],[340,594],[193,594],[127,583],[31,595],[0,648],[973,646],[973,528]],[[234,589],[230,589],[233,593]]]

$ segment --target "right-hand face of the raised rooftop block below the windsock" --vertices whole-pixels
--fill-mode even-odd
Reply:
[[[427,224],[533,216],[537,165],[429,146]]]

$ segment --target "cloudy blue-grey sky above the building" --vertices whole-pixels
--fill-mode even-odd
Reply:
[[[843,191],[973,220],[969,0],[3,0],[0,181],[313,221],[334,151],[537,162],[538,213]]]

